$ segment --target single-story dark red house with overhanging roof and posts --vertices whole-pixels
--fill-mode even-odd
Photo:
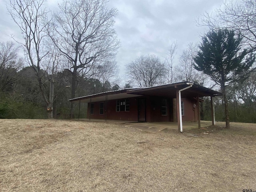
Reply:
[[[200,97],[221,95],[220,92],[193,84],[179,82],[155,87],[129,88],[102,92],[70,99],[88,103],[87,118],[135,122],[198,121],[200,126]],[[215,124],[212,102],[212,122]]]

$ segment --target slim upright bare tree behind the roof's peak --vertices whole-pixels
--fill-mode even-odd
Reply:
[[[172,83],[173,79],[173,61],[177,54],[178,44],[177,41],[172,42],[168,48],[167,56],[165,58],[167,64],[167,82]]]

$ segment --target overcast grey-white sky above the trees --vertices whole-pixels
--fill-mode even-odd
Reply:
[[[205,11],[214,12],[222,0],[110,0],[109,6],[118,9],[116,32],[121,41],[117,55],[121,75],[124,66],[140,55],[155,54],[164,60],[170,44],[177,40],[178,58],[189,42],[200,41],[206,29],[197,27],[195,20]],[[56,0],[48,0],[49,8]],[[6,10],[6,0],[0,0],[0,41],[10,40],[19,29]]]

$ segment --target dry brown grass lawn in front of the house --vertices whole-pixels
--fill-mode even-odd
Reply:
[[[256,125],[156,134],[69,120],[0,120],[0,191],[256,191]],[[211,133],[211,134],[204,134]]]

